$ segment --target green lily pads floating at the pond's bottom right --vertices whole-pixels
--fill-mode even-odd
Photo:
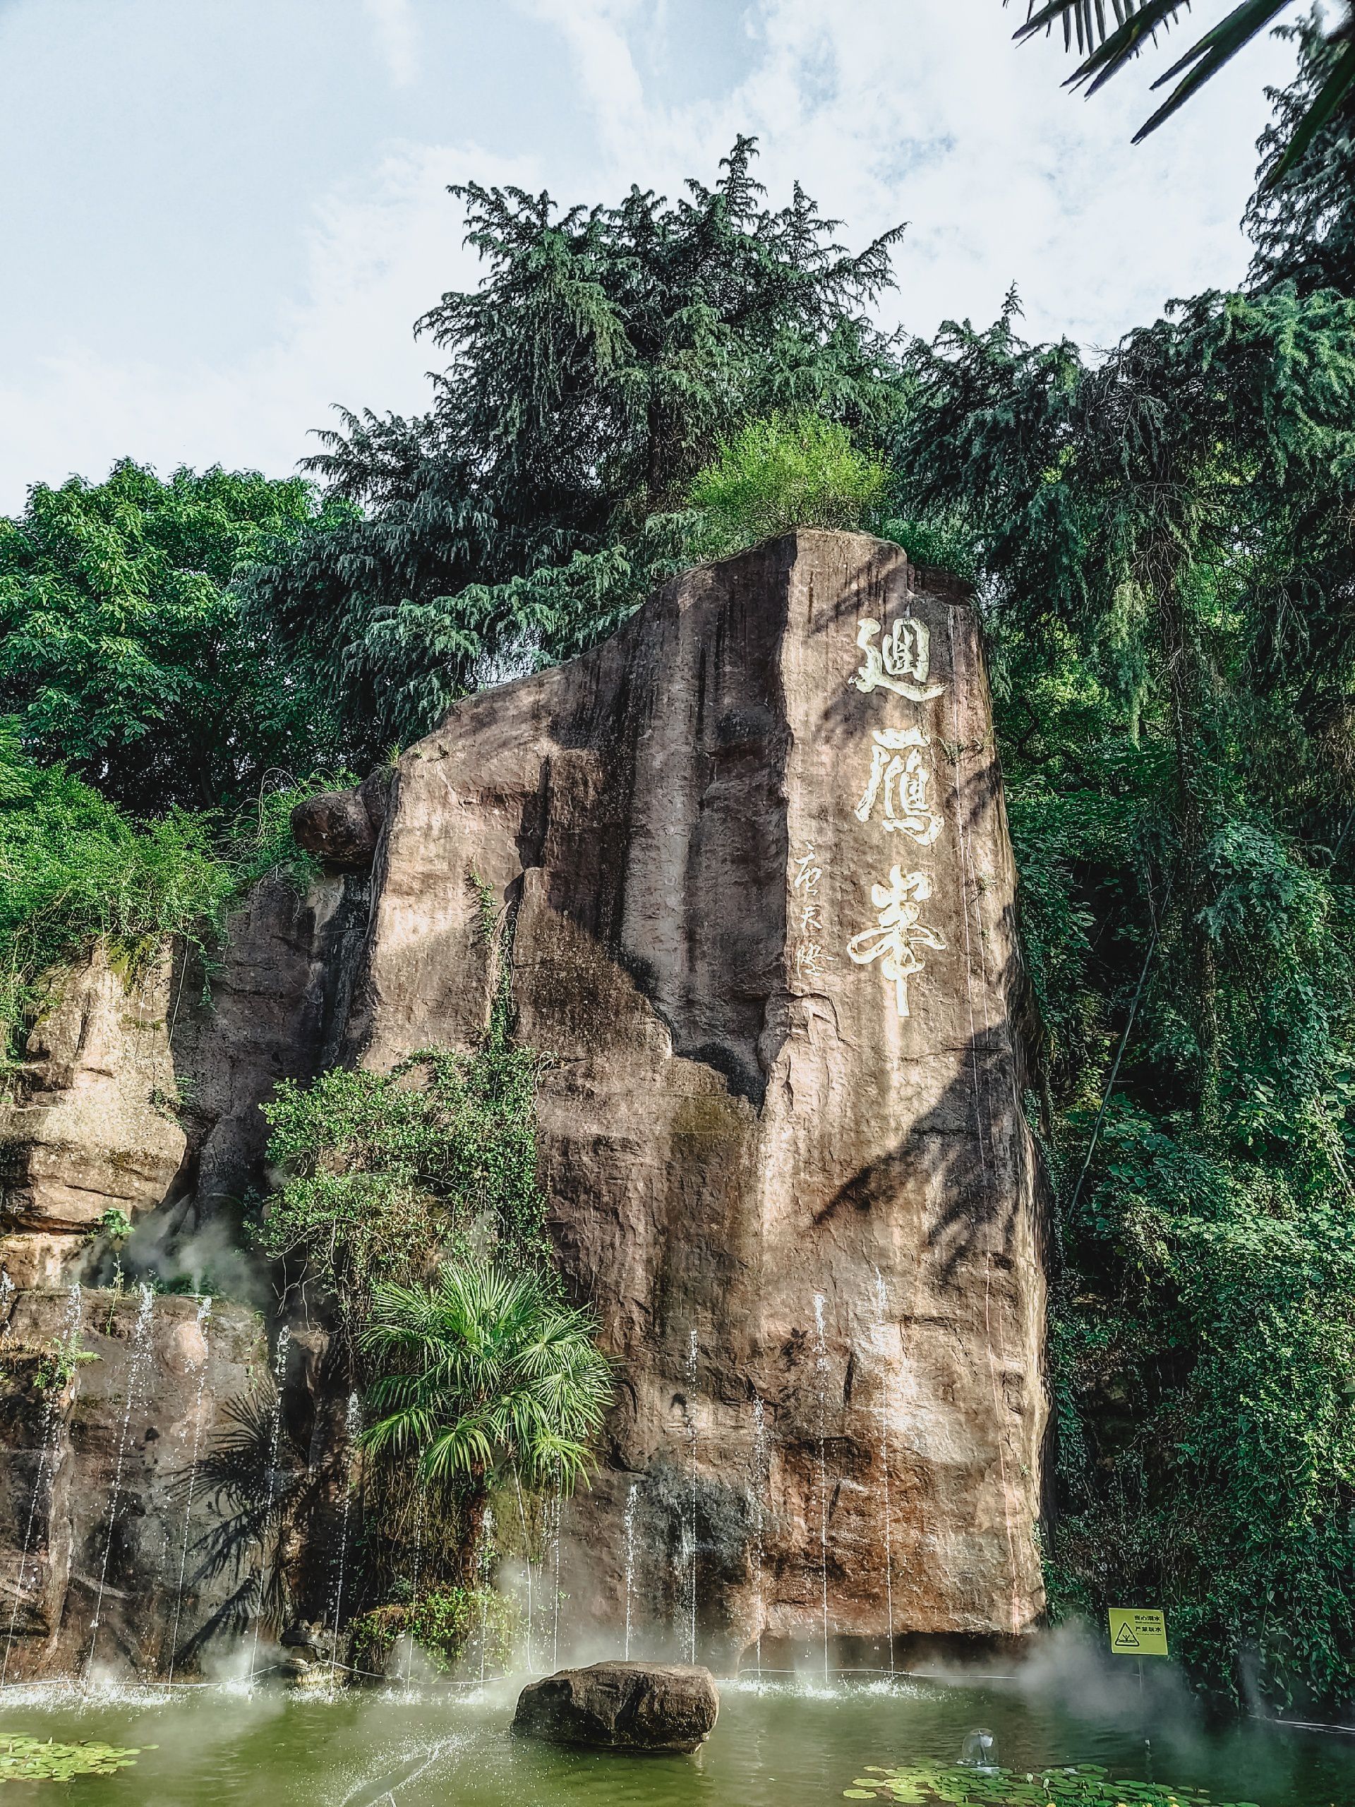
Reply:
[[[903,1802],[907,1807],[1205,1807],[1201,1789],[1173,1789],[1163,1782],[1126,1782],[1102,1764],[1066,1764],[1057,1769],[967,1769],[963,1764],[911,1764],[883,1769],[865,1764],[842,1791],[849,1802]],[[1212,1807],[1254,1807],[1250,1802],[1214,1802]]]

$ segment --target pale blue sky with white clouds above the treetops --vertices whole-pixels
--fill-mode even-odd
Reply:
[[[1221,13],[1198,0],[1198,29]],[[336,403],[426,401],[414,320],[477,280],[450,183],[560,202],[712,183],[759,139],[853,249],[909,228],[887,325],[1098,347],[1236,284],[1288,45],[1147,145],[1021,0],[0,0],[0,513],[117,457],[287,475]],[[1189,22],[1187,22],[1189,29]],[[1185,40],[1182,40],[1183,45]]]

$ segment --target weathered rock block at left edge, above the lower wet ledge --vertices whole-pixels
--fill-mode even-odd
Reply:
[[[14,1095],[0,1099],[13,1287],[87,1279],[107,1211],[136,1223],[179,1207],[202,1223],[260,1182],[258,1106],[280,1079],[309,1081],[334,1059],[365,929],[356,876],[320,878],[307,896],[266,882],[231,920],[208,1003],[201,967],[172,945],[134,969],[96,949],[58,976]]]

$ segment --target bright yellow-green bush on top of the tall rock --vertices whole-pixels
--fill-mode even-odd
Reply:
[[[771,414],[721,443],[687,502],[701,517],[703,549],[723,557],[791,528],[860,528],[887,482],[838,421]]]

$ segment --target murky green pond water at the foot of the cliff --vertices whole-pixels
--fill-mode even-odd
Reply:
[[[508,1682],[331,1700],[229,1686],[85,1700],[11,1688],[0,1735],[139,1746],[121,1774],[60,1785],[63,1802],[101,1807],[817,1807],[842,1802],[871,1764],[954,1762],[976,1724],[995,1733],[999,1762],[1017,1771],[1098,1762],[1117,1776],[1151,1769],[1156,1782],[1207,1787],[1220,1802],[1355,1803],[1355,1740],[1256,1722],[1207,1729],[1173,1686],[1149,1686],[1140,1702],[1136,1690],[1100,1686],[1088,1673],[909,1677],[831,1691],[723,1684],[715,1733],[690,1758],[517,1740],[508,1733],[517,1688]],[[54,1784],[11,1782],[4,1802],[20,1807],[56,1793]]]

